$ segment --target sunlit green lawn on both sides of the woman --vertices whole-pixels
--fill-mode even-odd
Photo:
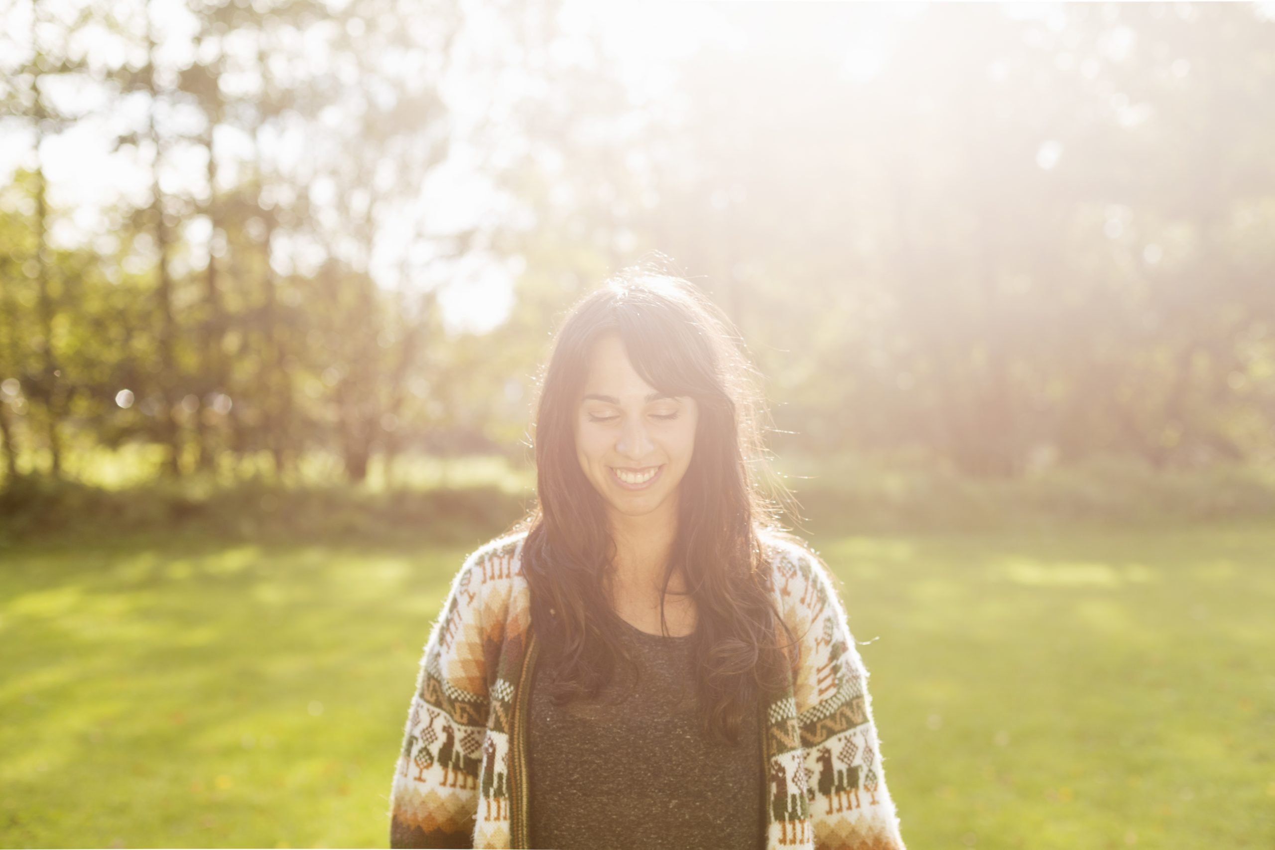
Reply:
[[[1275,846],[1275,526],[812,542],[910,847]],[[0,549],[0,845],[384,846],[464,553]]]

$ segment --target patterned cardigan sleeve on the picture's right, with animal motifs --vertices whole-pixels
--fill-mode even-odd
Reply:
[[[856,649],[831,572],[805,547],[789,549],[801,656],[794,681],[816,850],[903,850],[885,757]],[[782,572],[789,570],[782,567]],[[801,594],[798,596],[798,594]]]

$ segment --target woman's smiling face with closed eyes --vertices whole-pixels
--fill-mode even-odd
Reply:
[[[608,334],[593,347],[576,401],[580,469],[609,510],[676,516],[677,486],[695,451],[695,399],[668,396],[646,384],[620,336]]]

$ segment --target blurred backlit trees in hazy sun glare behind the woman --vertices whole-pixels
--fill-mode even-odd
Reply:
[[[649,9],[9,0],[0,474],[523,461],[555,322],[653,252],[741,328],[780,455],[1275,459],[1262,6]],[[92,209],[48,173],[85,139],[133,176]]]

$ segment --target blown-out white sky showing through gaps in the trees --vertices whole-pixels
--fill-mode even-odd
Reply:
[[[50,9],[74,6],[76,0],[42,0]],[[467,4],[474,14],[484,14],[483,4]],[[1019,5],[1019,13],[1049,14],[1057,4]],[[18,56],[26,52],[29,3],[15,3],[0,11],[0,22],[8,33],[8,45],[0,38],[0,73],[4,54]],[[565,34],[585,33],[595,29],[617,56],[626,82],[635,90],[652,98],[667,94],[673,83],[672,68],[677,60],[690,55],[699,46],[713,41],[736,48],[765,40],[780,52],[829,51],[844,56],[844,73],[856,79],[870,79],[890,55],[899,24],[914,17],[923,6],[915,4],[825,5],[825,4],[717,4],[668,3],[643,4],[584,3],[569,0],[560,17]],[[182,0],[163,0],[157,5],[158,23],[180,42],[186,33]],[[499,51],[501,46],[483,33],[493,27],[473,27],[468,50],[481,57]],[[18,47],[19,50],[13,50]],[[102,31],[91,45],[105,56],[113,50],[111,38]],[[175,50],[182,50],[180,45]],[[570,42],[560,50],[571,52]],[[491,79],[453,80],[445,90],[456,119],[456,139],[463,140],[468,130],[484,115],[499,113],[507,101],[516,98],[521,80],[502,78],[493,85]],[[59,103],[71,102],[78,107],[91,107],[101,94],[92,90],[55,92]],[[502,103],[504,101],[504,103]],[[52,204],[59,210],[59,222],[52,237],[62,242],[87,238],[110,240],[108,222],[103,210],[121,199],[139,203],[149,182],[150,154],[139,148],[130,153],[113,152],[111,139],[125,127],[142,126],[147,103],[143,99],[125,101],[106,115],[94,115],[76,124],[59,136],[48,138],[41,150],[46,175],[50,180]],[[235,130],[226,129],[217,136],[218,161],[241,159],[252,155],[252,140]],[[305,140],[278,138],[274,140],[280,163],[286,163],[293,145]],[[34,163],[32,135],[20,125],[0,121],[0,182],[11,176],[14,168]],[[201,149],[175,152],[168,169],[163,173],[166,191],[199,195],[203,186]],[[227,177],[233,176],[233,164],[223,167]],[[321,186],[311,187],[311,196],[321,195]],[[422,186],[419,209],[426,232],[449,232],[481,224],[493,213],[509,212],[511,199],[502,198],[483,177],[483,163],[477,152],[463,141],[453,148],[446,163],[436,168]],[[372,275],[382,285],[399,285],[400,271],[408,269],[414,285],[436,285],[440,303],[451,330],[481,331],[499,324],[513,303],[511,287],[520,265],[474,254],[454,264],[440,264],[432,259],[428,243],[414,243],[416,224],[409,217],[397,219],[395,226],[382,229],[377,247],[370,261]],[[207,228],[204,228],[207,231]],[[101,242],[106,238],[107,242]],[[207,261],[207,233],[198,228],[187,233],[193,243],[190,256],[178,260],[190,268],[200,268]],[[201,243],[203,240],[203,243]],[[303,246],[277,246],[277,265],[287,271],[292,263],[305,264]]]

